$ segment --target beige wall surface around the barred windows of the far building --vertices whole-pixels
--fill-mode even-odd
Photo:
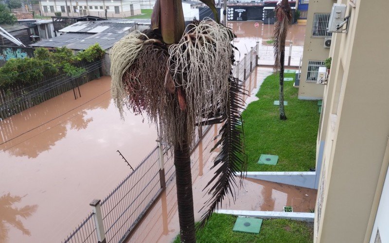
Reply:
[[[315,13],[331,13],[333,0],[316,0],[309,2],[307,25],[305,30],[304,53],[302,55],[299,99],[317,100],[323,98],[324,87],[316,83],[306,82],[308,61],[324,61],[330,53],[324,48],[324,37],[312,37],[312,25]]]

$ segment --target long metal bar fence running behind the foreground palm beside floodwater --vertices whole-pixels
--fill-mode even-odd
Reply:
[[[252,47],[232,69],[233,75],[239,77],[249,90],[255,87],[256,76],[253,70],[258,60],[257,50],[257,47]],[[202,168],[198,165],[210,158],[210,148],[216,142],[212,140],[221,126],[222,124],[215,124],[196,129],[191,150],[192,170]],[[164,149],[159,142],[103,201],[94,200],[90,203],[93,211],[63,243],[124,242],[164,191],[174,173],[173,149]],[[193,180],[195,175],[201,174],[202,171],[194,171]]]

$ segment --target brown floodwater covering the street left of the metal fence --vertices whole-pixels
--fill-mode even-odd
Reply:
[[[0,242],[59,242],[155,146],[154,126],[122,121],[110,77],[0,121]],[[2,230],[5,228],[5,230]]]

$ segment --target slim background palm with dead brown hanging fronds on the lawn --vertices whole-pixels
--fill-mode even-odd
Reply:
[[[282,0],[274,9],[277,22],[274,25],[274,73],[280,73],[280,119],[286,120],[285,107],[283,105],[283,62],[285,59],[285,40],[288,34],[289,22],[292,19],[288,0]]]

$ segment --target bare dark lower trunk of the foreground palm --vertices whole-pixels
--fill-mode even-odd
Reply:
[[[176,166],[177,204],[181,242],[196,242],[193,208],[191,156],[187,141],[174,147]]]

